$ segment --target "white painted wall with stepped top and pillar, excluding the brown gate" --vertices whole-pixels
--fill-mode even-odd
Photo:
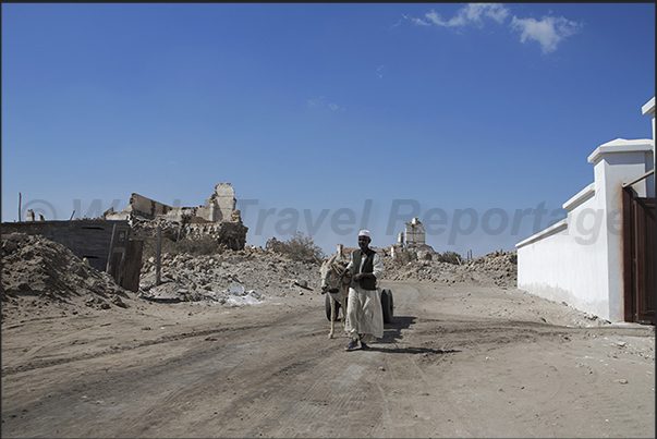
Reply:
[[[654,144],[617,138],[588,156],[595,181],[563,204],[567,218],[515,245],[519,289],[622,321],[621,191],[654,169]],[[654,179],[633,188],[654,197]]]

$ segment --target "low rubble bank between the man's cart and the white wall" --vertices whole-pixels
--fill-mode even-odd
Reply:
[[[518,284],[516,252],[497,251],[471,259],[462,265],[434,259],[413,260],[399,264],[386,253],[385,279],[404,281],[429,281],[443,284],[471,282],[478,285],[515,286]]]

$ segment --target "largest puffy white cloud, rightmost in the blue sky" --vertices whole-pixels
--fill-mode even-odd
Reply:
[[[557,50],[564,38],[580,32],[582,26],[564,17],[545,16],[540,21],[513,16],[511,28],[520,32],[520,42],[538,41],[544,53]]]

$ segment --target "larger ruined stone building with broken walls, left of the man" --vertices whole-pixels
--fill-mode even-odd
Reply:
[[[212,236],[231,249],[243,249],[248,228],[235,209],[235,190],[230,183],[217,183],[205,206],[180,207],[132,194],[125,210],[110,208],[102,215],[107,220],[127,220],[131,225],[144,221],[174,229],[182,236]]]

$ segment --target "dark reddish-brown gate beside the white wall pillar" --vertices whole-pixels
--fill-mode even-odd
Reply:
[[[655,325],[655,198],[623,187],[623,318]]]

